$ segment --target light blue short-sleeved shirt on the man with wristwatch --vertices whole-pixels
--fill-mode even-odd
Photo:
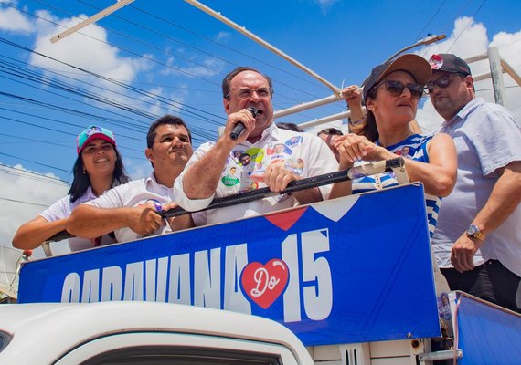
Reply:
[[[443,199],[432,239],[440,267],[452,267],[451,249],[487,202],[499,179],[497,169],[521,161],[521,130],[514,116],[500,105],[473,99],[443,123],[458,151],[458,175],[451,195]],[[521,276],[521,206],[487,235],[474,265],[499,260]]]

